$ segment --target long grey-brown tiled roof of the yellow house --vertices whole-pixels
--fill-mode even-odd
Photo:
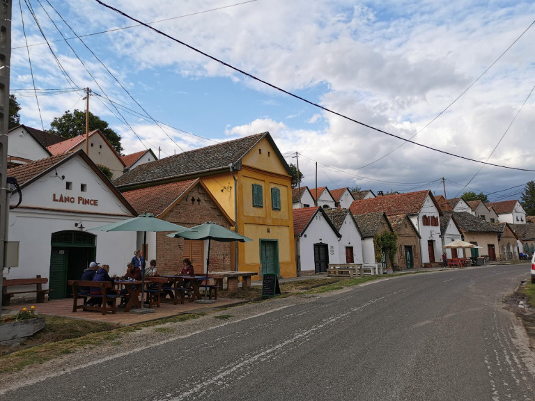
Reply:
[[[141,164],[121,175],[114,184],[121,187],[209,171],[229,170],[230,164],[237,166],[242,157],[264,137],[271,141],[270,134],[263,132]]]

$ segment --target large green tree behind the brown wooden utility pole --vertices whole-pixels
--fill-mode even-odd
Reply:
[[[89,131],[100,129],[106,139],[111,143],[111,146],[116,152],[121,155],[123,147],[121,146],[121,136],[119,136],[113,129],[108,127],[106,121],[101,120],[100,117],[95,116],[91,111],[89,112]],[[67,110],[61,117],[55,117],[50,123],[49,132],[64,138],[74,138],[75,136],[86,133],[86,113],[85,111],[75,110],[72,113]]]

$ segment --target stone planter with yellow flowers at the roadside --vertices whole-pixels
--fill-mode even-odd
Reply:
[[[45,327],[45,317],[36,313],[36,307],[22,308],[17,315],[0,320],[0,344],[14,343]]]

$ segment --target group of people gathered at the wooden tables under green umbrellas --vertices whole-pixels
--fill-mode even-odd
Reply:
[[[145,259],[141,255],[141,250],[137,250],[134,252],[134,257],[130,262],[126,265],[126,273],[124,276],[121,277],[111,277],[109,276],[109,265],[100,265],[97,262],[91,262],[89,264],[89,267],[84,270],[84,273],[82,274],[82,280],[85,281],[111,281],[112,287],[115,284],[115,280],[133,280],[133,281],[141,281],[141,278],[143,277],[142,271],[144,270],[145,277],[150,276],[157,276],[157,268],[156,268],[156,260],[150,260],[149,266],[145,267]],[[181,275],[187,275],[187,276],[193,276],[194,275],[194,268],[192,265],[191,260],[188,258],[185,258],[183,260],[183,269],[180,272]],[[157,287],[157,284],[150,283],[149,285],[153,285],[154,287]],[[182,287],[189,287],[191,283],[189,282],[181,282],[178,283],[178,285]],[[163,297],[166,297],[169,295],[171,299],[174,298],[173,291],[169,290],[173,286],[173,281],[170,281],[165,285],[166,290],[164,290],[164,293],[162,294]],[[114,290],[111,288],[107,289],[110,294],[114,294]],[[102,295],[102,292],[100,290],[100,287],[86,287],[86,288],[80,288],[80,292],[88,295],[98,296]],[[118,305],[118,307],[125,306],[129,299],[128,291],[123,288],[120,292],[121,294],[121,304]],[[88,299],[86,302],[86,305],[88,306],[100,306],[102,305],[102,298],[101,297],[91,297],[91,299]]]

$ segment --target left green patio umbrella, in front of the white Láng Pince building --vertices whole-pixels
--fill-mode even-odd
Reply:
[[[132,219],[117,221],[116,223],[104,224],[95,228],[89,228],[89,231],[143,231],[143,243],[147,242],[147,231],[156,233],[160,231],[176,231],[178,233],[185,233],[191,231],[190,228],[179,226],[175,223],[170,223],[162,219],[158,219],[152,213],[141,213],[138,217]],[[144,255],[146,258],[146,255]],[[143,295],[145,287],[145,267],[141,266],[141,309],[143,309]]]

